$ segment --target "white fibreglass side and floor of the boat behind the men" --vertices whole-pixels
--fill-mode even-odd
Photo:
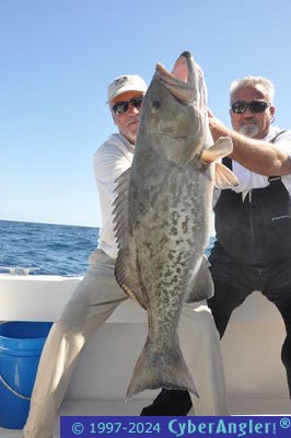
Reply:
[[[56,321],[80,280],[30,277],[0,275],[0,321]],[[138,416],[156,394],[124,401],[146,334],[146,312],[127,300],[84,347],[59,415]],[[291,415],[280,360],[284,336],[279,312],[261,293],[234,311],[221,341],[231,415]],[[21,431],[0,428],[0,438],[21,438]]]

